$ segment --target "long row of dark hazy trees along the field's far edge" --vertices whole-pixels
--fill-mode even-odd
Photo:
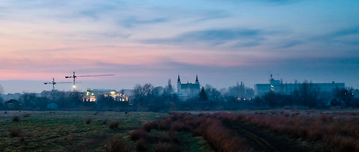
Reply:
[[[2,90],[2,87],[0,86]],[[0,91],[1,91],[0,90]],[[331,92],[320,91],[319,87],[304,81],[291,95],[282,95],[269,91],[262,96],[254,96],[254,90],[245,87],[244,83],[237,83],[228,89],[216,89],[211,85],[205,85],[197,96],[183,98],[173,94],[174,87],[171,79],[166,87],[155,87],[151,83],[135,85],[131,96],[133,109],[193,109],[193,105],[199,101],[211,103],[212,109],[237,109],[246,107],[284,107],[305,106],[325,107],[328,105],[346,105],[359,107],[359,98],[355,98],[353,88],[336,88]],[[46,109],[48,102],[57,102],[60,109],[75,109],[86,106],[86,96],[81,91],[43,91],[40,95],[23,92],[18,99],[25,109]],[[3,99],[0,96],[0,101]],[[331,101],[331,102],[329,102]],[[128,105],[115,106],[115,99],[111,96],[100,94],[97,96],[96,109],[111,109],[113,107],[126,107]],[[0,105],[1,107],[1,105]]]

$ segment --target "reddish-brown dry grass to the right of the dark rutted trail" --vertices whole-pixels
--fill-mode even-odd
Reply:
[[[213,117],[226,121],[242,122],[260,129],[269,129],[274,133],[289,135],[291,138],[302,138],[309,142],[321,141],[339,151],[359,151],[359,118],[350,118],[353,112],[336,112],[319,115],[302,116],[298,112],[283,115],[229,114],[221,113]],[[349,117],[347,117],[349,116]]]

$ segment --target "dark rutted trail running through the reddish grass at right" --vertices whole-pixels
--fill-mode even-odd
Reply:
[[[282,151],[293,151],[300,152],[306,151],[302,147],[289,141],[280,140],[273,136],[257,131],[256,129],[246,127],[244,124],[237,122],[222,122],[229,129],[236,131],[242,138],[246,138],[249,145],[253,147],[253,151],[266,151],[266,152],[282,152]]]

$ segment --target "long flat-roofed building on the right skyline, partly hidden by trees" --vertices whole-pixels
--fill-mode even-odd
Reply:
[[[254,96],[265,94],[268,91],[275,91],[283,95],[292,94],[295,89],[300,87],[301,83],[282,83],[280,80],[269,79],[269,84],[255,84],[254,85]],[[345,83],[313,83],[320,88],[320,91],[332,91],[336,87],[344,88]]]

